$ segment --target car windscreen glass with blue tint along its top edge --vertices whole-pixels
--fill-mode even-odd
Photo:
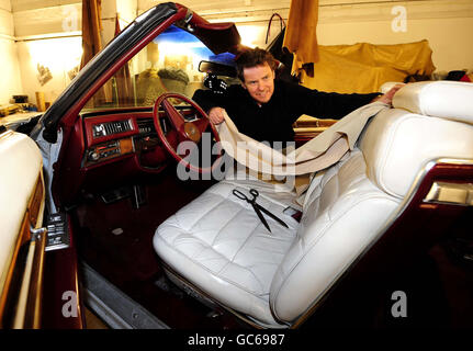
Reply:
[[[233,58],[229,53],[213,54],[194,35],[172,25],[109,79],[83,110],[151,106],[165,92],[192,98],[203,88],[202,60],[233,65]]]

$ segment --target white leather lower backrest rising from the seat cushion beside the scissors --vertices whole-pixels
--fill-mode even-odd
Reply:
[[[312,189],[271,286],[271,308],[280,320],[292,321],[316,303],[397,207],[399,201],[373,185],[365,169],[356,149]]]

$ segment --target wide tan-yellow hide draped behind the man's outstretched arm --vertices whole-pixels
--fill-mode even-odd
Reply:
[[[318,46],[314,77],[302,71],[302,86],[340,93],[379,91],[386,81],[431,75],[436,67],[428,41],[408,44]]]

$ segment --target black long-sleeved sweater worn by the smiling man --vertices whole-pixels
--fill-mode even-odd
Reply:
[[[225,109],[240,133],[272,144],[293,141],[292,124],[302,114],[338,120],[378,95],[327,93],[275,80],[273,95],[261,106],[239,84],[230,86],[223,94],[196,90],[192,99],[206,112],[215,106]]]

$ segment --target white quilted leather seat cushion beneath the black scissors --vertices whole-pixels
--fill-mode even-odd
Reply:
[[[269,290],[299,223],[282,213],[288,204],[260,194],[257,202],[290,227],[269,218],[270,234],[252,206],[233,195],[234,189],[249,195],[241,185],[222,181],[209,189],[158,228],[154,246],[173,270],[211,296],[274,325]]]

